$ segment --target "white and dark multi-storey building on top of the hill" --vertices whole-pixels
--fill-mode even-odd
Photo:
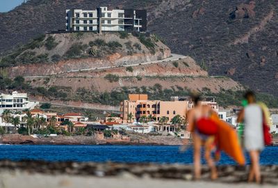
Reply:
[[[133,9],[67,9],[67,31],[147,31],[147,11]]]

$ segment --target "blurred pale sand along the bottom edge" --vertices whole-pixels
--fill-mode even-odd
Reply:
[[[78,175],[45,175],[40,173],[26,173],[21,171],[0,171],[1,188],[56,188],[56,187],[78,187],[78,188],[228,188],[228,187],[277,187],[272,185],[254,184],[223,184],[218,182],[191,182],[184,180],[158,180],[150,178],[136,178],[130,175],[122,175],[115,178],[97,178]]]

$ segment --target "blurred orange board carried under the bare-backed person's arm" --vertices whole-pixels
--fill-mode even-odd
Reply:
[[[245,164],[245,156],[238,141],[236,130],[223,120],[220,120],[217,115],[213,115],[212,120],[218,125],[218,146],[238,164]]]

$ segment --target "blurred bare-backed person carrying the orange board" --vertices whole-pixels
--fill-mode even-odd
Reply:
[[[211,168],[211,179],[215,180],[218,178],[218,172],[215,167],[215,162],[211,157],[211,151],[214,146],[214,136],[202,134],[197,129],[197,121],[201,118],[206,118],[211,116],[212,113],[215,113],[210,107],[207,105],[203,105],[201,103],[201,97],[199,95],[191,96],[194,102],[194,108],[188,111],[188,127],[187,130],[191,132],[193,135],[193,146],[194,146],[194,173],[195,180],[199,180],[201,178],[201,148],[204,146],[204,157],[208,166]],[[185,150],[188,139],[183,141],[183,147],[181,150]]]

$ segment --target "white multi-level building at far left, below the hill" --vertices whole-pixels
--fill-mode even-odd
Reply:
[[[14,91],[12,95],[1,94],[0,95],[0,111],[4,109],[10,110],[24,110],[24,109],[33,109],[38,102],[28,101],[27,93],[17,93]]]

